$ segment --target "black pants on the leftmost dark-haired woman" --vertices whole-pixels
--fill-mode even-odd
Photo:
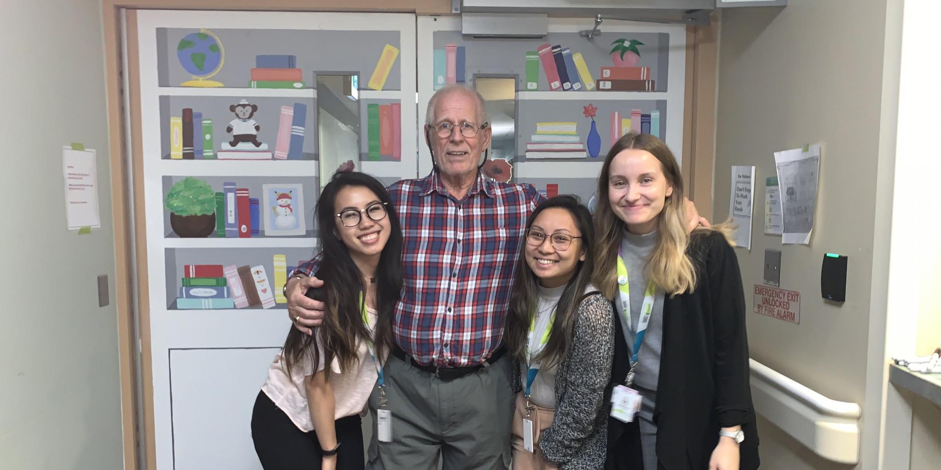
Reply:
[[[338,470],[362,470],[366,459],[362,452],[362,424],[359,415],[335,421]],[[297,429],[264,392],[258,393],[251,414],[251,438],[264,470],[319,469],[323,455],[317,434]]]

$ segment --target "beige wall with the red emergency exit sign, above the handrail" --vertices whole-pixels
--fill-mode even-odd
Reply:
[[[748,314],[752,357],[821,394],[862,405],[866,388],[885,0],[791,0],[722,13],[714,217],[728,213],[730,166],[756,165],[751,251],[736,249],[746,305],[765,248],[782,252],[781,288],[802,294],[800,324]],[[774,151],[821,143],[809,245],[763,234]],[[875,247],[875,249],[885,249]],[[849,256],[847,300],[821,299],[824,253]],[[765,432],[765,429],[768,431]],[[846,468],[805,457],[765,423],[762,468]],[[800,462],[800,463],[797,463]]]

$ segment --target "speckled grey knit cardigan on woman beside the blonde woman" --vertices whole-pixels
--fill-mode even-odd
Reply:
[[[599,470],[608,446],[611,403],[604,392],[614,354],[614,307],[600,294],[579,305],[572,350],[555,376],[555,417],[539,447],[560,470]]]

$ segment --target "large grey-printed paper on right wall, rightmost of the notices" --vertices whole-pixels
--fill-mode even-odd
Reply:
[[[810,243],[817,210],[817,184],[821,146],[774,152],[781,196],[782,243]]]

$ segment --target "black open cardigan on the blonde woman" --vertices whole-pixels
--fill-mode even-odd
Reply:
[[[717,232],[695,233],[687,249],[697,274],[694,292],[663,301],[663,343],[657,404],[657,459],[665,470],[709,468],[719,429],[742,425],[741,470],[758,468],[758,429],[748,384],[748,338],[742,274],[735,251]],[[615,310],[616,311],[616,310]],[[615,315],[612,384],[622,384],[630,352]],[[641,356],[639,360],[643,361]],[[609,416],[605,468],[643,469],[635,419]],[[640,466],[638,466],[640,465]]]

